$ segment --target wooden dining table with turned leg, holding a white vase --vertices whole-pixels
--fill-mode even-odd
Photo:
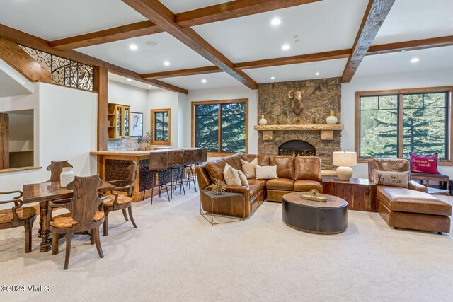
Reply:
[[[103,184],[98,187],[100,194],[113,189],[115,189],[115,186],[108,182],[103,182]],[[67,199],[72,198],[73,192],[72,190],[67,190],[65,187],[61,187],[59,182],[42,182],[23,185],[22,192],[24,204],[33,202],[40,203],[40,229],[38,231],[38,236],[41,237],[40,252],[48,252],[52,245],[52,238],[49,238],[49,223],[51,220],[49,202],[54,202],[56,204],[59,201],[66,202]]]

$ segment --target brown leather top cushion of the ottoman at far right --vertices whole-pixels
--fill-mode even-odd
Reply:
[[[425,192],[377,187],[377,199],[392,211],[450,216],[452,206]]]

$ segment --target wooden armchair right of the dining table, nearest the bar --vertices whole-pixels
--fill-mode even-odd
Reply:
[[[115,185],[115,190],[112,190],[105,200],[104,200],[104,236],[108,235],[108,214],[111,211],[122,210],[122,214],[127,219],[126,209],[129,211],[130,221],[134,228],[137,228],[135,224],[134,216],[132,216],[132,193],[134,192],[135,187],[135,178],[137,176],[138,163],[132,161],[130,166],[127,168],[129,170],[129,176],[125,180],[109,180],[108,182],[112,185]],[[118,194],[118,192],[127,192],[127,194]]]

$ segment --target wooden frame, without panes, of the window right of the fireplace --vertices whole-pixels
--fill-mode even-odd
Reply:
[[[408,88],[408,89],[394,89],[386,91],[357,91],[355,93],[355,152],[357,153],[357,163],[367,163],[369,158],[360,157],[360,97],[364,96],[382,96],[382,95],[397,95],[398,96],[398,158],[404,158],[403,154],[403,95],[418,94],[418,93],[447,93],[447,151],[448,159],[439,161],[438,165],[453,165],[453,108],[452,108],[452,94],[453,86],[440,86],[428,88]]]

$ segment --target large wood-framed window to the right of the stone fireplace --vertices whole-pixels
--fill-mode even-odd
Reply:
[[[449,87],[356,93],[359,159],[415,152],[438,153],[440,161],[449,161],[451,93]]]

